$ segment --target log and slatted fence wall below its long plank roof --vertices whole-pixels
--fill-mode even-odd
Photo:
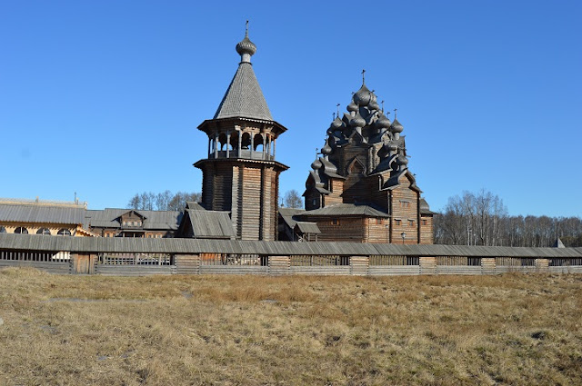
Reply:
[[[582,259],[467,256],[265,256],[236,253],[69,253],[0,251],[0,268],[34,267],[59,274],[477,275],[506,272],[582,273]]]

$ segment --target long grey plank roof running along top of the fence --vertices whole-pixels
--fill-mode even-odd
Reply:
[[[521,258],[582,258],[582,248],[485,247],[361,242],[252,242],[236,240],[68,237],[0,233],[0,250],[48,252],[257,253],[289,255],[398,255]]]

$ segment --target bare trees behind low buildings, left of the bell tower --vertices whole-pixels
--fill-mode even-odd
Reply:
[[[135,193],[127,203],[127,208],[142,211],[184,211],[186,201],[197,203],[200,201],[200,193]]]

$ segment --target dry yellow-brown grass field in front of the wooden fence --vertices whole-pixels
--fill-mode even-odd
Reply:
[[[582,384],[582,276],[0,271],[2,385]]]

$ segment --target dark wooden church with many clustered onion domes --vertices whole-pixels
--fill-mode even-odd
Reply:
[[[318,241],[432,243],[433,212],[408,169],[402,131],[363,81],[327,129],[306,180],[306,211],[294,220],[316,223]]]

